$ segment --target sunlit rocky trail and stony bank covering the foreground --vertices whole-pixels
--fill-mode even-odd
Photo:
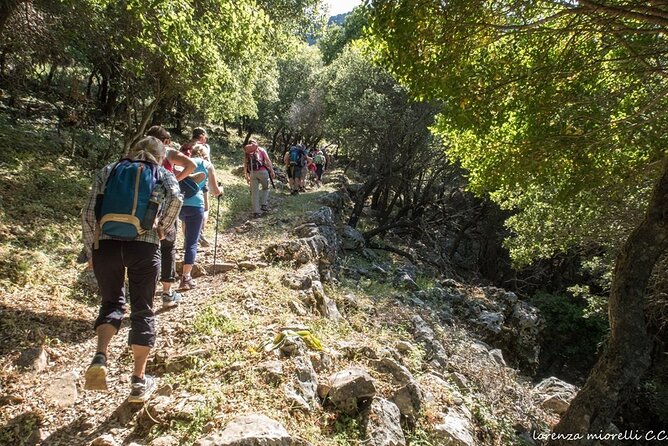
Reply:
[[[125,401],[127,324],[110,390],[83,391],[95,300],[4,297],[0,444],[533,444],[575,391],[534,389],[506,365],[535,360],[536,310],[496,288],[420,283],[341,223],[345,183],[310,194],[298,212],[236,216],[216,265],[201,249],[198,287],[157,312],[144,406]],[[272,208],[290,199],[274,193]]]

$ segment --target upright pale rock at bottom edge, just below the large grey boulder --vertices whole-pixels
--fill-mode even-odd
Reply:
[[[399,408],[383,398],[374,398],[364,412],[364,444],[369,446],[405,446]]]

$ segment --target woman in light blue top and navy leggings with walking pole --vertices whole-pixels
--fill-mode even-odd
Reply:
[[[185,227],[185,240],[183,243],[185,255],[183,259],[181,282],[179,284],[179,289],[184,291],[192,290],[196,286],[195,281],[192,279],[191,271],[197,257],[197,247],[199,245],[199,237],[204,222],[203,189],[208,185],[209,189],[213,192],[213,195],[218,199],[220,199],[220,196],[223,193],[218,187],[216,169],[213,167],[213,164],[203,158],[206,152],[202,144],[195,144],[191,154],[191,159],[197,165],[195,172],[203,172],[205,178],[197,184],[198,190],[191,197],[183,200],[183,207],[179,214],[179,218],[183,221]]]

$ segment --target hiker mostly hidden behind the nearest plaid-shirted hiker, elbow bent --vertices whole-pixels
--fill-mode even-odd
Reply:
[[[148,129],[146,135],[155,136],[165,145],[167,153],[162,167],[172,172],[176,176],[177,181],[184,180],[194,172],[197,167],[195,162],[179,150],[170,147],[172,137],[167,130],[159,125],[154,125]],[[204,177],[205,175],[200,172],[193,175],[191,180],[197,183],[202,181]],[[175,219],[174,225],[165,233],[165,237],[160,240],[160,283],[162,283],[162,306],[165,308],[178,305],[183,297],[180,293],[172,290],[172,285],[176,282],[177,226],[178,219]]]

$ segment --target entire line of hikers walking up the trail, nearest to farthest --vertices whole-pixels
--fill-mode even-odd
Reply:
[[[124,159],[108,164],[95,176],[82,211],[84,251],[101,294],[94,323],[96,352],[85,373],[87,390],[107,389],[107,351],[128,300],[128,344],[134,358],[128,402],[145,402],[156,389],[146,364],[156,340],[157,282],[162,285],[165,308],[179,304],[178,291],[196,287],[191,273],[197,250],[209,245],[203,236],[209,195],[220,199],[223,193],[207,140],[206,130],[197,127],[190,141],[179,146],[166,129],[153,126]],[[283,161],[291,194],[296,195],[304,190],[309,171],[320,184],[327,159],[319,150],[309,152],[295,145]],[[244,173],[251,189],[252,217],[260,217],[269,210],[269,183],[273,184],[276,173],[267,151],[252,139],[244,145]],[[183,227],[184,259],[177,291],[173,288],[178,220]]]

